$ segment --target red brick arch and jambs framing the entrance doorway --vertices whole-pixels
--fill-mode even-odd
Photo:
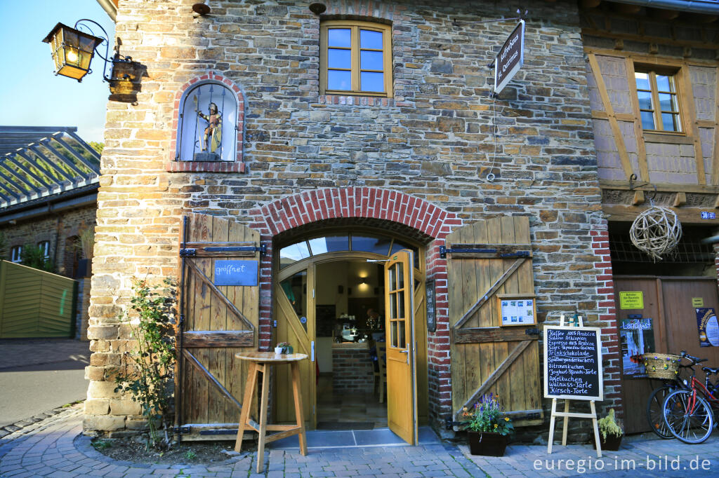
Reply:
[[[374,187],[328,188],[300,192],[250,210],[251,228],[260,231],[267,256],[260,272],[260,349],[269,350],[272,336],[272,245],[273,238],[301,226],[341,218],[374,219],[403,225],[425,238],[426,276],[434,278],[436,332],[427,336],[429,366],[429,413],[439,421],[452,413],[449,371],[449,317],[447,314],[446,261],[439,246],[462,219],[454,212],[403,192]]]

